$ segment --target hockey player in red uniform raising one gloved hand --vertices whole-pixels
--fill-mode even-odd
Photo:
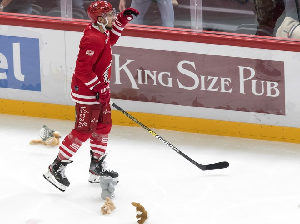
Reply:
[[[59,146],[57,158],[49,165],[45,179],[61,191],[70,185],[65,175],[70,158],[83,142],[89,139],[91,164],[89,182],[99,183],[100,176],[119,174],[108,169],[104,161],[108,134],[111,131],[111,107],[109,82],[112,65],[112,49],[121,36],[124,26],[138,16],[134,8],[126,8],[116,16],[116,11],[106,1],[92,2],[88,17],[92,20],[81,36],[76,67],[71,82],[71,98],[75,102],[74,129]]]

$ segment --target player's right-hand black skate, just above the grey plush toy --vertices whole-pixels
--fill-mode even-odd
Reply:
[[[111,169],[107,168],[107,163],[104,162],[105,157],[107,154],[105,153],[102,155],[99,160],[95,160],[93,158],[93,153],[91,153],[91,164],[90,164],[90,169],[89,173],[91,174],[90,178],[88,179],[88,182],[90,183],[100,183],[100,177],[107,177],[110,176],[113,178],[113,180],[118,182],[118,176],[119,174]]]

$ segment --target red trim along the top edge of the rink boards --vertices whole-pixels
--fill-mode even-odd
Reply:
[[[84,30],[85,26],[87,26],[88,21],[68,21],[62,20],[58,17],[36,17],[31,15],[20,17],[13,13],[2,13],[0,24],[81,32]],[[299,40],[280,40],[277,38],[271,39],[268,37],[252,37],[250,35],[241,36],[233,33],[217,33],[209,31],[205,31],[205,33],[199,33],[188,29],[167,30],[161,27],[127,25],[122,35],[161,40],[300,52]]]

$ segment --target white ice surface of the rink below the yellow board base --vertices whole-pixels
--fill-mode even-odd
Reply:
[[[146,224],[300,222],[298,144],[153,129],[200,164],[230,163],[202,171],[143,128],[114,125],[106,162],[119,173],[116,209],[102,215],[101,188],[88,182],[88,141],[66,169],[65,192],[43,178],[58,146],[28,144],[44,124],[64,138],[73,121],[1,114],[0,124],[3,224],[134,224],[131,202],[148,211]]]

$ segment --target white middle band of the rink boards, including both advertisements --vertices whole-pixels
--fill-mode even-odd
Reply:
[[[82,32],[0,34],[0,98],[75,105]],[[300,127],[299,52],[121,36],[112,53],[111,98],[126,111]]]

